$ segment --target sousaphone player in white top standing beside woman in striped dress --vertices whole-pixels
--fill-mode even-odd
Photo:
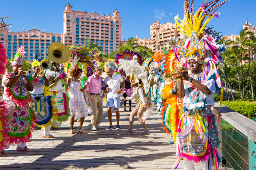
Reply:
[[[52,129],[59,130],[62,122],[66,122],[69,119],[70,111],[69,111],[69,99],[62,91],[62,81],[66,79],[66,74],[64,71],[57,68],[57,64],[54,61],[50,61],[50,69],[46,70],[46,77],[50,83],[50,92],[53,94],[54,101],[56,102],[56,106],[54,109],[56,110],[56,114],[58,118],[54,120],[54,124],[52,125]]]

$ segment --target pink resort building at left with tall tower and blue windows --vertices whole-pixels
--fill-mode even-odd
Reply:
[[[121,17],[117,9],[112,16],[101,16],[94,12],[72,11],[72,6],[68,3],[63,10],[63,33],[48,33],[34,29],[21,32],[9,32],[6,24],[0,22],[1,43],[7,50],[9,59],[15,55],[19,46],[25,46],[27,54],[25,59],[30,62],[36,53],[46,51],[50,43],[62,42],[69,46],[72,43],[85,45],[87,39],[90,43],[96,43],[101,47],[103,53],[115,51],[118,43],[121,42]],[[46,57],[46,53],[41,56]]]

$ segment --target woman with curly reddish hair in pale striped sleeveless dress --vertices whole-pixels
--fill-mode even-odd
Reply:
[[[70,134],[74,134],[73,132],[73,126],[74,126],[74,119],[75,116],[79,116],[80,118],[80,124],[79,124],[79,133],[85,133],[85,131],[82,130],[83,121],[86,116],[88,116],[87,111],[87,105],[85,103],[85,100],[83,98],[83,91],[85,88],[89,85],[86,84],[83,89],[81,89],[81,81],[80,76],[82,73],[82,69],[78,67],[78,65],[75,66],[74,69],[71,69],[69,72],[69,77],[66,80],[65,83],[65,91],[69,89],[69,108],[70,108]]]

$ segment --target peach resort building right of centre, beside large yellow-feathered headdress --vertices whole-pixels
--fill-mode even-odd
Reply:
[[[137,44],[141,46],[147,46],[148,48],[154,50],[155,52],[162,51],[164,48],[169,48],[169,40],[172,38],[183,38],[183,34],[177,29],[176,24],[168,22],[166,24],[160,24],[158,18],[154,21],[154,24],[150,25],[150,40],[145,40],[137,38]],[[127,41],[122,41],[121,44],[126,43]]]

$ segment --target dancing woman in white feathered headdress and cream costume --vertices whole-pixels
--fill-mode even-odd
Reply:
[[[134,122],[134,117],[137,115],[139,122],[145,128],[143,134],[149,133],[145,120],[150,117],[153,112],[154,104],[150,98],[145,97],[145,94],[148,93],[150,85],[147,81],[147,75],[143,71],[143,68],[137,62],[137,56],[134,56],[132,60],[119,60],[118,70],[123,70],[126,75],[131,77],[131,85],[133,88],[132,97],[124,98],[125,100],[135,99],[136,107],[130,113],[130,127],[124,133],[132,133],[132,126]]]

